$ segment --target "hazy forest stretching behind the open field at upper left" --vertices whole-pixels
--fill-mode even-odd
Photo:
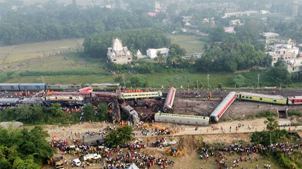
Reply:
[[[128,12],[121,8],[92,7],[45,3],[11,10],[11,3],[0,3],[0,44],[41,42],[63,38],[79,38],[105,31],[150,28],[158,25],[157,18]],[[161,24],[161,23],[160,23]]]

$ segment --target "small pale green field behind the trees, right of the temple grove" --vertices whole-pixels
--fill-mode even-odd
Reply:
[[[169,35],[171,43],[179,44],[180,47],[186,49],[187,54],[203,52],[205,42],[200,41],[196,36],[190,35]]]

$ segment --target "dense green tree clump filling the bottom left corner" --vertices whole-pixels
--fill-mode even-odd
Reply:
[[[0,169],[40,169],[42,161],[55,153],[46,137],[42,127],[30,131],[0,127]]]

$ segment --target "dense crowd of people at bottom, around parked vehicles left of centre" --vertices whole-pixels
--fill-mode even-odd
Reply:
[[[73,149],[79,149],[77,154],[77,158],[81,159],[84,155],[92,152],[92,148],[89,145],[85,145],[80,142],[80,140],[74,141]],[[62,155],[70,153],[72,150],[71,144],[68,140],[55,140],[55,138],[51,141],[51,146],[61,151]],[[117,169],[126,169],[132,163],[135,163],[137,166],[143,169],[150,169],[152,166],[159,166],[161,169],[167,169],[167,166],[170,166],[174,169],[174,162],[166,157],[155,157],[153,155],[146,155],[139,153],[140,149],[145,148],[146,145],[142,142],[138,141],[137,143],[127,143],[116,148],[107,148],[104,145],[103,149],[98,153],[101,155],[101,158],[91,161],[83,162],[83,167],[87,167],[87,164],[91,163],[100,163],[102,165],[102,169],[111,169],[111,167],[115,167]],[[66,157],[65,157],[66,158]],[[66,161],[65,164],[69,167],[73,168],[73,163],[71,159]]]

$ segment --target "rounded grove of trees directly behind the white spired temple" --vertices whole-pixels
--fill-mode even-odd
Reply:
[[[106,58],[108,47],[112,46],[112,38],[116,37],[133,53],[140,49],[146,54],[148,48],[161,48],[171,43],[162,31],[149,28],[106,32],[85,38],[83,42],[85,54],[89,57]]]

